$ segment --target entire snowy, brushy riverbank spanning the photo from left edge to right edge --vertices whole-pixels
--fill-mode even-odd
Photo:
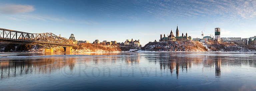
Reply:
[[[24,47],[24,48],[23,48]],[[18,44],[1,44],[0,52],[26,52],[44,53],[41,46],[29,46]],[[72,53],[83,52],[255,52],[255,45],[238,45],[233,43],[218,43],[209,41],[206,43],[184,41],[184,42],[151,42],[141,49],[131,46],[102,46],[92,44],[82,44],[72,47]],[[53,48],[53,52],[65,52],[63,47]]]

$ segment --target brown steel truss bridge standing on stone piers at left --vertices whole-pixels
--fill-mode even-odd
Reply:
[[[66,52],[70,52],[71,46],[75,46],[68,39],[56,36],[52,33],[31,34],[2,28],[0,28],[0,42],[39,45],[46,47],[46,52],[51,52],[51,48],[58,46],[62,46]]]

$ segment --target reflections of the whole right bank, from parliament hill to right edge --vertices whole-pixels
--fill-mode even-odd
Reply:
[[[249,65],[251,67],[255,66],[255,60],[253,59],[255,56],[226,56],[216,54],[209,55],[198,55],[193,53],[156,53],[152,55],[146,55],[146,59],[150,62],[160,64],[160,70],[169,70],[171,75],[173,71],[176,73],[176,77],[179,77],[179,71],[188,72],[188,68],[192,66],[201,66],[202,71],[204,72],[204,68],[215,67],[215,77],[221,77],[221,64],[225,66],[241,66],[241,65]],[[242,57],[242,58],[240,58]],[[247,58],[247,61],[245,60]],[[225,60],[225,61],[221,61]],[[250,61],[248,61],[250,60]]]

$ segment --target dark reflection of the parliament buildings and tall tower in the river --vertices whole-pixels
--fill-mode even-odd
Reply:
[[[162,56],[162,55],[160,54],[159,56]],[[152,59],[152,58],[150,57],[150,59]],[[194,66],[201,65],[201,64],[203,64],[203,67],[215,66],[215,77],[219,78],[221,76],[221,58],[218,57],[218,58],[214,58],[214,59],[215,60],[204,60],[203,57],[191,58],[191,57],[170,56],[170,57],[166,57],[166,58],[161,57],[160,60],[159,60],[159,58],[155,58],[153,60],[159,60],[161,70],[167,69],[171,72],[171,74],[173,74],[173,71],[174,71],[176,73],[177,79],[179,76],[179,71],[187,72],[188,68],[191,68],[192,63]]]

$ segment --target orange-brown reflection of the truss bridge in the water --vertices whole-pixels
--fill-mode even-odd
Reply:
[[[64,61],[62,59],[65,59]],[[38,59],[0,60],[1,78],[16,77],[25,74],[50,74],[61,67],[68,66],[73,70],[75,58],[39,57]]]

